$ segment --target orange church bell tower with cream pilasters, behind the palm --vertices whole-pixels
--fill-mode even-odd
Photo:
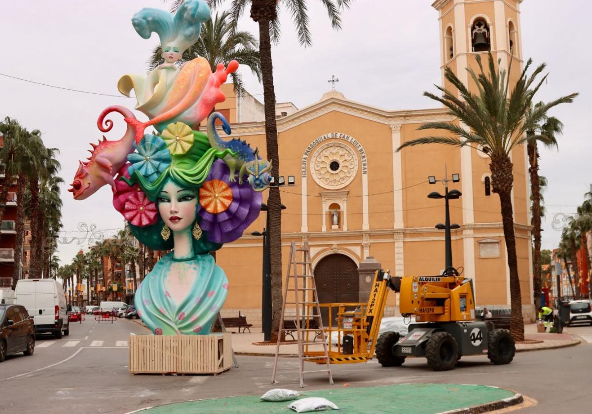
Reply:
[[[520,37],[520,4],[522,0],[436,0],[439,13],[440,70],[442,85],[455,92],[445,79],[449,67],[467,88],[476,93],[477,85],[466,68],[480,73],[477,56],[487,67],[487,53],[491,52],[496,64],[507,74],[510,90],[523,69],[522,41]],[[510,65],[511,62],[511,65]],[[460,96],[459,96],[460,98]],[[461,127],[467,128],[462,124]],[[516,251],[523,297],[528,300],[532,292],[532,250],[530,248],[530,183],[526,145],[511,153],[514,165],[513,209],[516,231]],[[507,303],[510,303],[509,270],[501,226],[499,199],[489,191],[491,172],[487,154],[468,146],[459,149],[462,192],[462,249],[465,273],[474,275],[477,286],[498,289],[506,284]],[[493,235],[496,235],[493,237]],[[497,258],[487,256],[485,244],[498,242]],[[492,269],[496,276],[491,276]],[[503,277],[503,273],[506,277]],[[496,279],[495,282],[493,280]],[[505,279],[505,280],[504,280]],[[505,283],[504,283],[505,282]],[[491,283],[491,284],[488,284]],[[530,283],[530,288],[527,283]],[[487,290],[487,289],[485,289]],[[525,294],[526,292],[526,294]],[[488,294],[475,292],[478,303],[488,303]],[[532,298],[531,298],[532,299]],[[524,310],[523,310],[524,312]],[[526,314],[526,313],[525,313]]]

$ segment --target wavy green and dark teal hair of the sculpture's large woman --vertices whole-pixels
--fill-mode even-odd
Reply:
[[[210,173],[214,160],[223,158],[226,155],[235,156],[236,154],[228,149],[220,151],[210,147],[208,137],[203,132],[193,131],[193,135],[194,143],[189,148],[189,151],[182,155],[172,155],[172,162],[155,182],[150,183],[137,170],[134,170],[130,179],[124,176],[121,176],[120,179],[124,180],[129,186],[139,185],[153,202],[157,201],[162,187],[169,180],[182,188],[193,190],[197,196],[198,190]],[[171,235],[168,240],[162,238],[160,232],[165,227],[165,222],[160,217],[160,214],[157,214],[157,217],[155,224],[145,227],[134,226],[130,223],[131,232],[137,240],[151,250],[170,250],[174,247],[173,237]],[[201,218],[197,214],[195,220],[198,224],[201,223]],[[222,247],[222,244],[208,241],[206,233],[203,231],[200,240],[192,238],[194,254],[205,254]]]

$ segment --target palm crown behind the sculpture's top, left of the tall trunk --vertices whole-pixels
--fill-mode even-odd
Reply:
[[[218,63],[224,63],[226,66],[231,60],[236,60],[248,67],[261,82],[259,44],[249,32],[237,31],[235,22],[230,18],[230,11],[224,11],[205,22],[201,27],[200,39],[183,53],[179,62],[189,62],[201,56],[210,63],[211,71],[215,72]],[[161,54],[162,48],[157,46],[150,59],[150,69],[155,69],[164,62]],[[234,84],[234,93],[238,96],[242,95],[244,93],[242,76],[239,72],[233,72],[230,77]]]

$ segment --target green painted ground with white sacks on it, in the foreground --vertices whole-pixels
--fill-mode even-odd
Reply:
[[[262,391],[265,392],[266,390]],[[514,395],[513,392],[482,385],[459,384],[400,384],[381,387],[335,388],[302,391],[304,397],[324,397],[340,410],[336,413],[417,413],[432,414],[447,410],[493,402]],[[294,413],[289,402],[265,402],[258,396],[228,397],[168,404],[144,410],[150,414],[234,414],[234,413]]]

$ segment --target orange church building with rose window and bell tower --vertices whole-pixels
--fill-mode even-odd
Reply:
[[[478,72],[475,57],[488,51],[501,67],[510,59],[510,82],[523,68],[520,41],[521,0],[437,0],[432,6],[439,18],[442,83],[445,67],[475,90],[466,67]],[[427,85],[426,85],[427,87]],[[510,85],[511,89],[511,85]],[[230,93],[227,93],[230,95]],[[252,98],[252,97],[251,97]],[[265,157],[264,122],[243,121],[236,99],[227,100],[232,137],[247,140]],[[444,269],[444,201],[429,199],[444,192],[442,183],[430,185],[428,177],[442,179],[459,174],[449,189],[462,192],[451,200],[453,265],[474,280],[477,306],[510,307],[510,274],[501,223],[500,200],[493,193],[488,156],[475,148],[419,145],[397,152],[404,142],[432,135],[417,131],[432,121],[458,122],[445,108],[391,111],[372,103],[350,101],[330,90],[305,108],[278,115],[281,187],[282,267],[288,266],[289,246],[308,241],[321,302],[366,300],[369,278],[358,269],[378,262],[396,276],[436,276]],[[285,114],[285,115],[284,115]],[[437,131],[437,134],[442,132]],[[221,133],[224,137],[224,134]],[[225,138],[226,139],[226,138]],[[530,189],[526,147],[511,154],[514,164],[514,228],[523,315],[533,319]],[[267,198],[263,193],[263,202]],[[251,235],[265,228],[262,212],[239,240],[217,252],[226,272],[229,295],[223,316],[242,312],[247,321],[261,324],[262,239]],[[365,296],[366,295],[366,296]],[[394,294],[386,315],[397,314]]]

